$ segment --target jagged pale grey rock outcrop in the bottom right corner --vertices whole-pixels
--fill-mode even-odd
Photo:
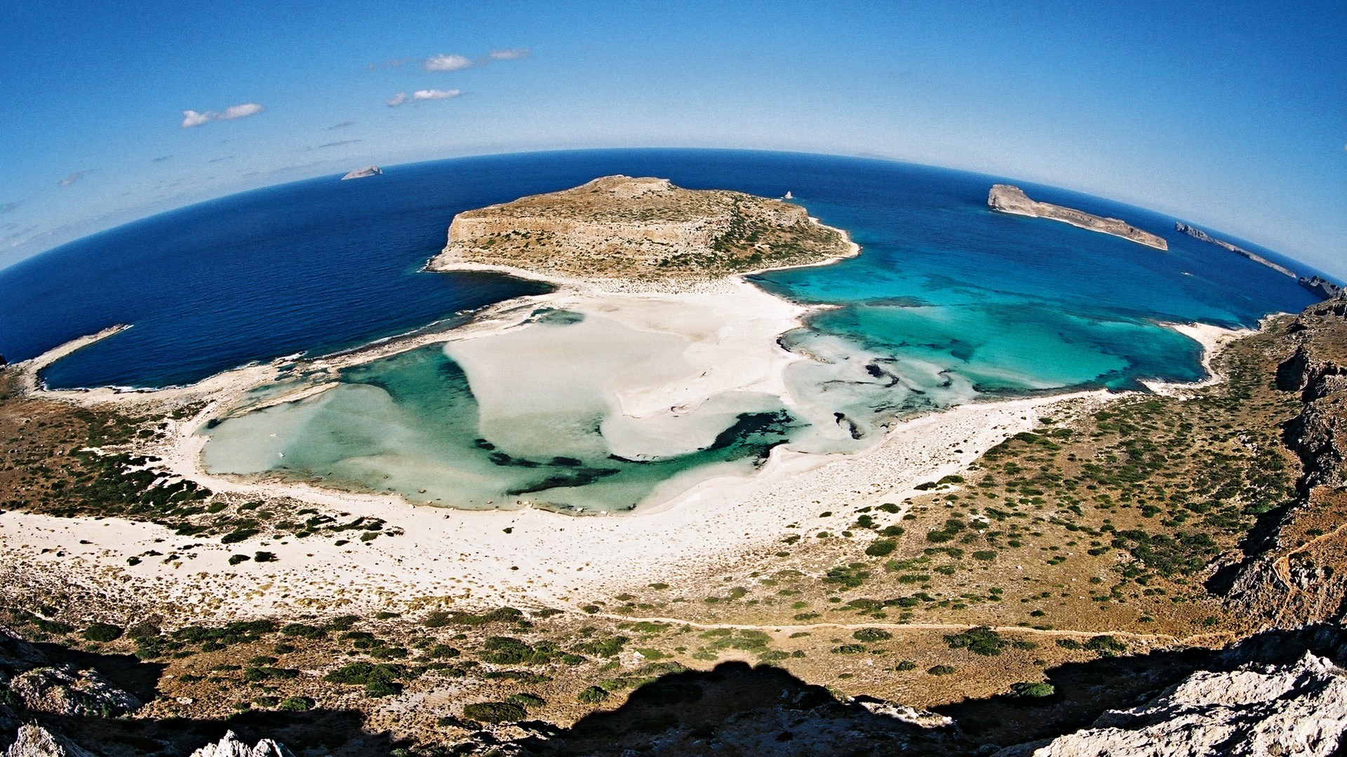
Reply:
[[[1307,653],[1288,665],[1199,671],[1092,727],[995,757],[1328,757],[1347,735],[1347,673]]]

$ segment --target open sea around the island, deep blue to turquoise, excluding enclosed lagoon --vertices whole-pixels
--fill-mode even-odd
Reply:
[[[51,387],[162,387],[414,330],[539,291],[504,276],[420,272],[455,213],[606,174],[769,197],[789,190],[811,214],[850,232],[863,253],[758,283],[842,306],[816,317],[812,335],[958,374],[982,392],[1196,378],[1196,345],[1153,321],[1251,326],[1316,299],[1286,276],[1175,232],[1175,218],[1053,187],[855,158],[603,150],[393,166],[349,182],[323,176],[66,244],[0,271],[0,353],[24,360],[131,323],[43,377]],[[1169,252],[990,211],[994,182],[1123,218],[1164,236]]]

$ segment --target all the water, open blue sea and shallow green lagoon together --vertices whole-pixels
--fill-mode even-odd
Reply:
[[[337,388],[311,399],[224,420],[206,431],[206,466],[454,506],[527,500],[622,511],[709,475],[750,471],[776,445],[855,449],[896,418],[955,403],[1196,380],[1199,346],[1164,322],[1254,326],[1315,299],[1286,276],[1176,233],[1175,218],[1053,187],[836,156],[577,151],[397,166],[361,182],[298,182],[65,245],[0,271],[0,286],[15,292],[0,303],[0,352],[23,358],[131,322],[135,329],[57,362],[43,378],[57,387],[154,387],[453,319],[541,291],[501,276],[419,272],[454,213],[617,172],[691,189],[789,190],[862,246],[859,257],[835,265],[752,279],[777,296],[830,306],[781,338],[810,356],[787,381],[812,407],[723,397],[719,428],[700,449],[624,457],[605,434],[610,408],[599,399],[508,423],[498,412],[484,418],[485,388],[430,346],[346,369]],[[986,193],[995,182],[1125,218],[1164,236],[1171,249],[990,211]],[[97,282],[78,296],[61,294],[55,282],[71,271]],[[24,306],[39,298],[48,307]],[[559,335],[579,327],[564,318],[544,326]],[[519,365],[529,368],[527,360]],[[260,389],[253,401],[272,391]],[[823,428],[838,418],[824,409],[841,414],[858,438],[838,440],[835,427]]]

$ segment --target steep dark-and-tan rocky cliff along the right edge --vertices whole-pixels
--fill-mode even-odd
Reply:
[[[1276,513],[1227,593],[1263,628],[1347,618],[1347,296],[1307,308],[1285,339],[1294,352],[1277,369],[1277,388],[1303,403],[1282,430],[1301,461],[1299,497]]]

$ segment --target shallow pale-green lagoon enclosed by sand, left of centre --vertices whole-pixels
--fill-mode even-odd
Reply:
[[[524,457],[482,436],[467,377],[438,345],[346,369],[341,381],[315,397],[211,428],[206,467],[473,509],[528,501],[622,511],[692,471],[698,478],[752,471],[795,426],[780,407],[745,412],[703,451],[640,462],[609,454],[598,415],[533,415],[525,420],[531,435],[556,440],[555,454]],[[583,449],[570,428],[577,420],[591,430]]]

